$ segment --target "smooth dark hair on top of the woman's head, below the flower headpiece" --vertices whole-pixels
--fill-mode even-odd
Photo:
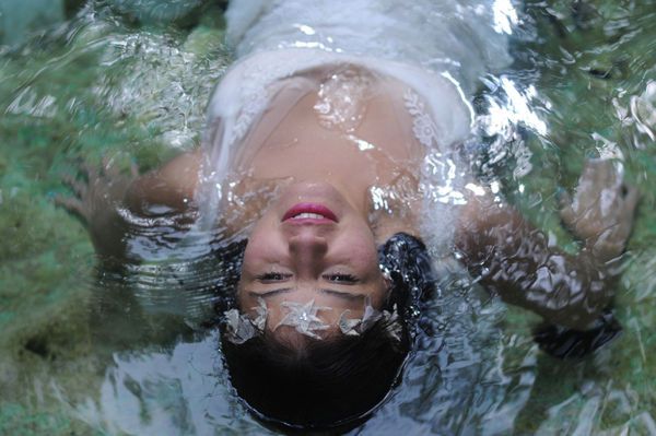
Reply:
[[[356,425],[394,387],[409,351],[408,337],[395,343],[382,321],[360,337],[304,340],[301,347],[272,334],[222,341],[233,387],[279,427]]]

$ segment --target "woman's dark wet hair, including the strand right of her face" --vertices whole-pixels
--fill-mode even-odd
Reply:
[[[233,250],[231,256],[235,255]],[[384,319],[359,337],[304,338],[302,346],[267,332],[235,344],[222,329],[231,382],[260,421],[286,431],[352,428],[399,381],[413,342],[420,297],[433,290],[435,281],[426,248],[413,236],[393,236],[378,256],[393,281],[383,309],[397,306],[400,341],[390,339]]]

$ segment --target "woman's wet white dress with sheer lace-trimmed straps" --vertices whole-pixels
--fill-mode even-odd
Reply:
[[[207,162],[201,223],[220,213],[221,185],[249,130],[281,83],[319,67],[356,66],[407,85],[406,108],[426,148],[421,174],[429,246],[452,236],[454,204],[461,203],[468,168],[455,145],[471,132],[469,98],[478,78],[509,61],[506,36],[496,32],[491,0],[239,0],[226,11],[236,62],[208,106]],[[496,26],[499,27],[499,26]],[[321,83],[304,86],[318,90]],[[202,219],[204,216],[204,219]],[[204,220],[204,221],[203,221]]]

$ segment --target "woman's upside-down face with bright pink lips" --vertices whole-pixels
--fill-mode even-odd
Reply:
[[[328,307],[316,315],[336,327],[340,315],[363,315],[365,299],[379,308],[388,285],[378,268],[365,214],[335,187],[301,182],[285,188],[256,223],[244,255],[238,301],[243,310],[268,308],[274,329],[288,314],[284,302]]]

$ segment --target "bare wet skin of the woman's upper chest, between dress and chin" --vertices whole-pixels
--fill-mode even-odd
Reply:
[[[364,217],[372,210],[372,188],[386,191],[402,182],[403,189],[410,184],[410,191],[417,193],[413,173],[423,148],[412,133],[402,87],[385,82],[374,91],[358,109],[358,122],[335,125],[317,110],[320,90],[308,91],[290,81],[245,139],[235,162],[238,174],[261,181],[330,184]],[[408,204],[399,205],[408,210]],[[414,220],[408,220],[407,213],[387,213],[384,219],[399,221],[388,225],[395,231],[415,233],[413,224],[408,225]]]

